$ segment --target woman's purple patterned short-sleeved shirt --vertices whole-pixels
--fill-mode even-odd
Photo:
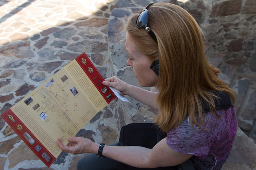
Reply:
[[[189,117],[178,127],[168,132],[167,145],[176,152],[192,154],[192,163],[196,169],[219,170],[228,158],[236,135],[236,111],[234,107],[217,110],[216,118],[212,112],[204,113],[203,130],[189,123]],[[199,122],[199,121],[198,121]]]

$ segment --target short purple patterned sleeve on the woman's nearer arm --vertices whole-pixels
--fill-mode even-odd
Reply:
[[[168,132],[166,144],[174,151],[195,156],[205,156],[210,147],[218,140],[211,130],[204,130],[191,125],[179,125]]]

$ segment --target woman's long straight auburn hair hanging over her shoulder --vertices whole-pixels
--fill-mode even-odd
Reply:
[[[169,3],[156,3],[148,8],[148,27],[156,35],[156,43],[144,29],[136,27],[134,14],[126,31],[136,40],[140,53],[152,61],[159,60],[156,106],[160,113],[155,123],[169,131],[189,116],[191,125],[204,126],[200,98],[206,100],[217,117],[212,91],[226,92],[234,101],[234,91],[217,75],[204,53],[204,35],[194,18],[183,8]],[[198,107],[196,119],[195,108]]]

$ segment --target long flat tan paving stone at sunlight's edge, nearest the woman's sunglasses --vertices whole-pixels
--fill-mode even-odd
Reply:
[[[107,24],[108,24],[108,19],[106,18],[91,18],[91,19],[76,23],[74,25],[78,27],[101,27]]]

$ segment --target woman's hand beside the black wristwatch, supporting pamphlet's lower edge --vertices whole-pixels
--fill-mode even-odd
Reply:
[[[70,142],[67,146],[64,146],[60,139],[57,140],[60,149],[64,152],[71,154],[81,154],[81,153],[91,153],[93,152],[92,146],[93,143],[90,139],[84,137],[72,137],[69,138]]]

